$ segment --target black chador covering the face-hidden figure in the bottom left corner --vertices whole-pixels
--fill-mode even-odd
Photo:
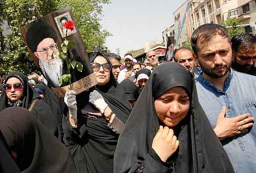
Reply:
[[[22,172],[77,172],[68,149],[23,107],[0,112],[0,129]]]

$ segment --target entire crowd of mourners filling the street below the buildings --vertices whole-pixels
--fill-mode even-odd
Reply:
[[[60,98],[1,75],[1,172],[256,172],[256,36],[199,26],[172,61],[91,52],[97,84]]]

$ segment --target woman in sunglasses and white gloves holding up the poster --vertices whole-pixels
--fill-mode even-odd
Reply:
[[[115,146],[131,107],[109,60],[100,53],[90,57],[98,84],[90,89],[90,95],[82,92],[75,96],[74,91],[67,91],[64,141],[79,172],[113,172]]]

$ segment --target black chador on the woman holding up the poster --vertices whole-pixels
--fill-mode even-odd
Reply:
[[[93,55],[95,58],[97,53]],[[94,58],[90,59],[91,62]],[[107,84],[95,86],[90,91],[76,96],[77,127],[71,127],[67,116],[64,141],[73,155],[79,172],[113,172],[113,156],[119,134],[108,127],[105,116],[88,102],[89,92],[93,89],[102,94],[108,106],[123,123],[129,117],[131,112],[129,102],[110,71],[110,80]]]

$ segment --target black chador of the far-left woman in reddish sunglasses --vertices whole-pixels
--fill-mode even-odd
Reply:
[[[29,109],[33,100],[36,100],[36,104],[32,109],[33,115],[36,118],[38,118],[41,121],[41,123],[43,123],[52,134],[54,134],[56,137],[59,137],[60,129],[57,124],[56,117],[53,115],[49,106],[46,103],[44,103],[44,101],[41,99],[37,91],[28,83],[28,77],[21,72],[12,72],[8,74],[8,76],[6,77],[6,82],[11,77],[16,77],[22,81],[23,95],[21,99],[18,100],[20,101],[20,103],[11,105],[9,103],[7,94],[4,91],[0,96],[0,111],[7,107],[12,107],[14,105],[18,105],[20,107]]]

